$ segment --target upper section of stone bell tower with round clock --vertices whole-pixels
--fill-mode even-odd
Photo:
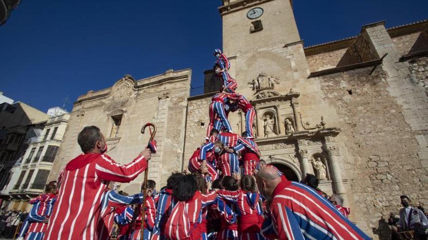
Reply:
[[[223,0],[219,11],[229,54],[300,40],[291,0]]]

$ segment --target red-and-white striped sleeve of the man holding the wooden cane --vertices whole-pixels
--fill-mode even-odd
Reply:
[[[138,156],[132,162],[121,165],[102,154],[95,164],[95,171],[99,178],[115,182],[130,182],[146,168],[147,161],[143,156]]]

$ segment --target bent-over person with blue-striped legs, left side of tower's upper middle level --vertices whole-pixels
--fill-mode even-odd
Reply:
[[[229,110],[230,106],[227,95],[223,92],[214,94],[209,106],[210,123],[207,128],[207,138],[211,136],[213,128],[217,131],[226,128],[227,132],[232,132],[232,127],[228,120]]]

